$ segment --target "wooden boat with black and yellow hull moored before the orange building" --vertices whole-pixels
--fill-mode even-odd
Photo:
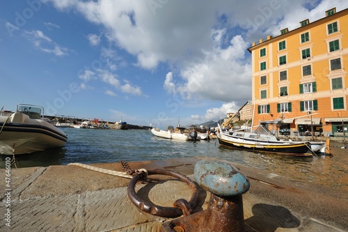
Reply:
[[[262,124],[254,132],[223,132],[219,125],[217,138],[219,139],[219,144],[222,146],[278,153],[281,155],[312,156],[312,153],[308,153],[310,148],[309,141],[279,140]]]

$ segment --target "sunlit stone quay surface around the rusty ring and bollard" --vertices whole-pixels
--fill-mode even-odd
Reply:
[[[169,169],[194,179],[193,167],[202,159],[208,158],[129,162],[129,165],[131,169]],[[119,163],[91,166],[122,171]],[[251,183],[250,190],[243,194],[244,222],[256,231],[348,231],[347,192],[241,164],[235,167]],[[171,220],[136,208],[127,196],[127,178],[74,165],[12,168],[6,186],[9,172],[6,169],[0,172],[0,231],[155,232],[162,223]],[[143,199],[159,206],[172,206],[176,199],[191,197],[189,187],[170,176],[148,178],[152,182],[136,185]],[[200,191],[196,211],[207,208],[208,199],[209,192]]]

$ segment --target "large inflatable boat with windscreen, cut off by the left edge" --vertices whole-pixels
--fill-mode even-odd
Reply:
[[[0,115],[0,155],[28,154],[60,147],[68,140],[57,127],[43,118],[44,108],[17,105],[17,111]]]

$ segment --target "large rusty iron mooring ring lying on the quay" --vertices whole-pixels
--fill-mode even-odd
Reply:
[[[177,173],[175,171],[168,171],[165,169],[151,169],[148,170],[148,176],[150,175],[166,175],[166,176],[173,176],[175,178],[178,178],[184,183],[187,183],[189,187],[193,190],[193,194],[191,196],[191,199],[189,202],[187,202],[184,199],[179,199],[175,201],[174,206],[175,207],[163,207],[163,206],[157,206],[152,202],[143,200],[138,194],[135,192],[135,185],[136,183],[143,179],[143,174],[139,173],[136,176],[132,178],[132,180],[128,184],[127,188],[127,194],[129,199],[134,203],[136,207],[139,209],[148,212],[152,215],[156,215],[159,217],[180,217],[181,215],[189,215],[191,213],[192,208],[195,208],[198,203],[198,185],[193,182],[190,178],[185,176],[182,173]]]

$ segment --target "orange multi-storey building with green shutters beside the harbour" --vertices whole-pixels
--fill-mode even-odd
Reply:
[[[299,24],[248,48],[253,125],[282,118],[292,133],[348,136],[348,9]]]

